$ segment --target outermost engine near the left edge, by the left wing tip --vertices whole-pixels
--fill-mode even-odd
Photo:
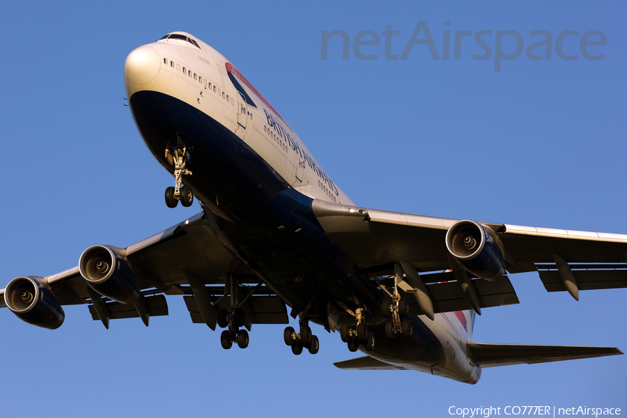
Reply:
[[[15,277],[4,291],[4,302],[17,318],[56,330],[65,320],[63,308],[50,291],[32,277]]]

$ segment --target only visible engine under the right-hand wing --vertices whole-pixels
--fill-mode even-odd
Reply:
[[[472,221],[456,222],[447,232],[447,249],[465,270],[483,279],[505,274],[503,253],[485,226]]]

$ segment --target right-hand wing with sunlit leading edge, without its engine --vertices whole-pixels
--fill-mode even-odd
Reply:
[[[387,212],[318,199],[314,200],[313,210],[335,245],[359,268],[373,274],[391,274],[394,263],[401,260],[415,265],[419,272],[453,268],[445,238],[457,219]],[[625,234],[479,224],[502,242],[508,272],[538,271],[547,291],[568,290],[562,278],[571,277],[568,270],[579,290],[627,287]],[[564,264],[568,267],[564,268]]]

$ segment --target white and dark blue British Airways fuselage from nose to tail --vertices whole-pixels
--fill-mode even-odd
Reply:
[[[469,311],[410,318],[409,339],[386,339],[378,288],[327,238],[314,199],[353,205],[284,118],[224,56],[177,32],[135,49],[125,87],[141,137],[162,166],[185,155],[191,187],[215,234],[296,314],[325,327],[327,301],[365,306],[377,336],[368,355],[404,369],[475,383],[465,350]],[[318,313],[317,315],[315,313]]]

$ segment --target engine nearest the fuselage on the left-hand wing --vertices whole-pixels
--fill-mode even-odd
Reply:
[[[88,286],[109,299],[132,303],[140,295],[130,266],[111,247],[93,245],[83,251],[79,271]]]

